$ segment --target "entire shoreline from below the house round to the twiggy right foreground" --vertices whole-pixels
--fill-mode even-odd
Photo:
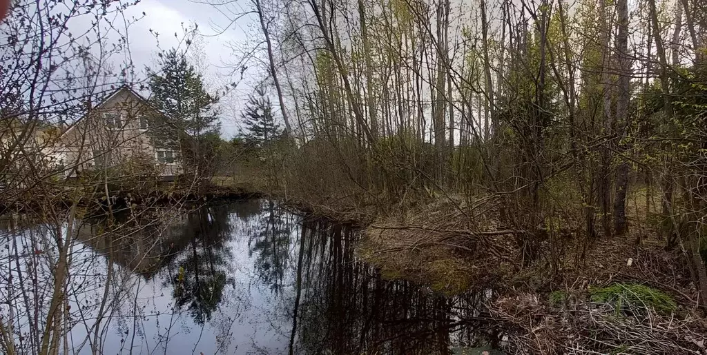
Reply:
[[[619,349],[639,338],[662,351],[700,351],[699,344],[707,344],[707,324],[696,307],[689,275],[680,267],[681,255],[663,250],[655,235],[639,245],[626,236],[600,238],[590,246],[575,245],[567,236],[561,267],[553,269],[547,256],[527,264],[518,260],[515,231],[499,232],[496,222],[484,224],[489,227],[485,231],[465,228],[464,210],[453,212],[457,207],[439,201],[399,215],[376,215],[370,206],[337,207],[283,195],[212,185],[199,193],[175,189],[136,196],[123,191],[113,205],[272,198],[309,218],[346,224],[361,234],[354,246],[356,258],[375,267],[383,279],[407,280],[446,299],[486,294],[479,314],[505,332],[508,346],[503,348],[511,353],[556,354],[573,346],[606,349],[614,343]],[[94,206],[106,202],[85,199]],[[495,233],[491,227],[497,228]],[[539,253],[551,253],[547,241]],[[585,253],[580,265],[573,260],[578,253]],[[664,326],[653,327],[656,322]],[[670,339],[684,334],[695,342]]]

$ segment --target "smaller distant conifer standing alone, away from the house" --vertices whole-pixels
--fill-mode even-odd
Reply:
[[[272,104],[262,88],[255,90],[256,95],[250,95],[241,117],[243,126],[240,133],[247,143],[259,148],[278,139],[282,130],[272,114]]]

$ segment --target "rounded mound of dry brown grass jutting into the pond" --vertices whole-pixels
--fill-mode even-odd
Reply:
[[[493,220],[469,217],[489,201],[436,202],[370,224],[359,255],[386,277],[428,284],[445,294],[483,289],[515,270],[510,231],[491,227]]]

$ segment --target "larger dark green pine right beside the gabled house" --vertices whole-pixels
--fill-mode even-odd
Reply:
[[[204,88],[204,81],[185,54],[172,49],[159,54],[160,69],[151,71],[151,104],[163,115],[153,119],[153,137],[163,148],[179,151],[185,172],[208,174],[214,150],[209,142],[221,124],[216,104],[219,97]]]

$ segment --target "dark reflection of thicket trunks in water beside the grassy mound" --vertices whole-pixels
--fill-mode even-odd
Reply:
[[[305,223],[302,236],[291,354],[447,354],[452,347],[498,345],[497,331],[480,336],[471,327],[487,295],[445,298],[386,281],[356,260],[356,233],[341,224]]]

